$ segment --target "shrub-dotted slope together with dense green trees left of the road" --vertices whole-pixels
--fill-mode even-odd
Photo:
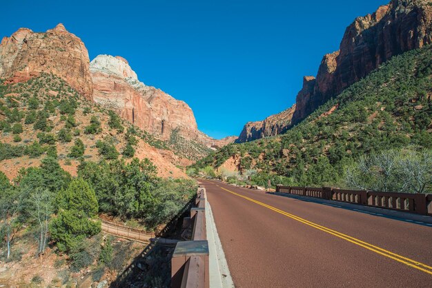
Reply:
[[[0,172],[0,262],[54,263],[49,273],[30,271],[21,284],[115,277],[142,245],[104,236],[98,214],[155,231],[196,192],[195,181],[159,178],[151,161],[134,158],[139,139],[164,142],[52,74],[0,85],[0,134],[1,165],[21,167],[13,179]]]

